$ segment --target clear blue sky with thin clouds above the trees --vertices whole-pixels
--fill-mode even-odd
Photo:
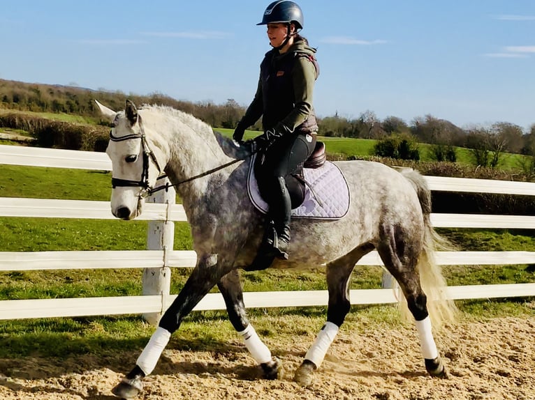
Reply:
[[[252,100],[269,1],[4,0],[0,78]],[[534,0],[301,0],[318,116],[535,123]]]

